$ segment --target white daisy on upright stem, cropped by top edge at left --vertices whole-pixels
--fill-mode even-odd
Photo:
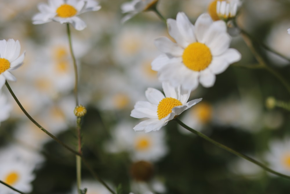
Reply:
[[[33,24],[44,24],[55,21],[61,24],[71,23],[76,30],[86,28],[86,23],[77,15],[101,8],[94,0],[48,0],[48,5],[39,3],[37,13],[32,17]]]

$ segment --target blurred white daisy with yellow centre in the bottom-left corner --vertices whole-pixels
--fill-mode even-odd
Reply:
[[[0,180],[19,191],[30,193],[32,191],[31,182],[35,179],[33,170],[34,165],[21,161],[1,161]],[[0,191],[3,194],[17,194],[16,191],[12,191],[3,184],[0,184]]]

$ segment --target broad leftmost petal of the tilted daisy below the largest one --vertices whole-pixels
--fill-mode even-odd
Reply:
[[[131,117],[134,118],[158,118],[157,106],[150,102],[139,101],[135,104],[134,109],[131,111]]]

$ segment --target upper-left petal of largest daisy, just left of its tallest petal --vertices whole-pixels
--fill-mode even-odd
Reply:
[[[186,42],[186,40],[180,34],[175,19],[167,19],[167,28],[169,35],[174,38],[178,45],[180,45],[182,48],[186,48],[189,45],[189,43]]]

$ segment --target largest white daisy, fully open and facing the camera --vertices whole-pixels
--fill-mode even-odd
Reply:
[[[167,19],[167,25],[176,43],[166,37],[156,39],[156,47],[164,54],[151,64],[162,82],[188,90],[197,88],[199,82],[211,87],[216,74],[241,58],[236,49],[229,48],[231,37],[226,32],[225,22],[213,22],[208,14],[200,15],[194,26],[185,13],[180,12],[176,20]]]

